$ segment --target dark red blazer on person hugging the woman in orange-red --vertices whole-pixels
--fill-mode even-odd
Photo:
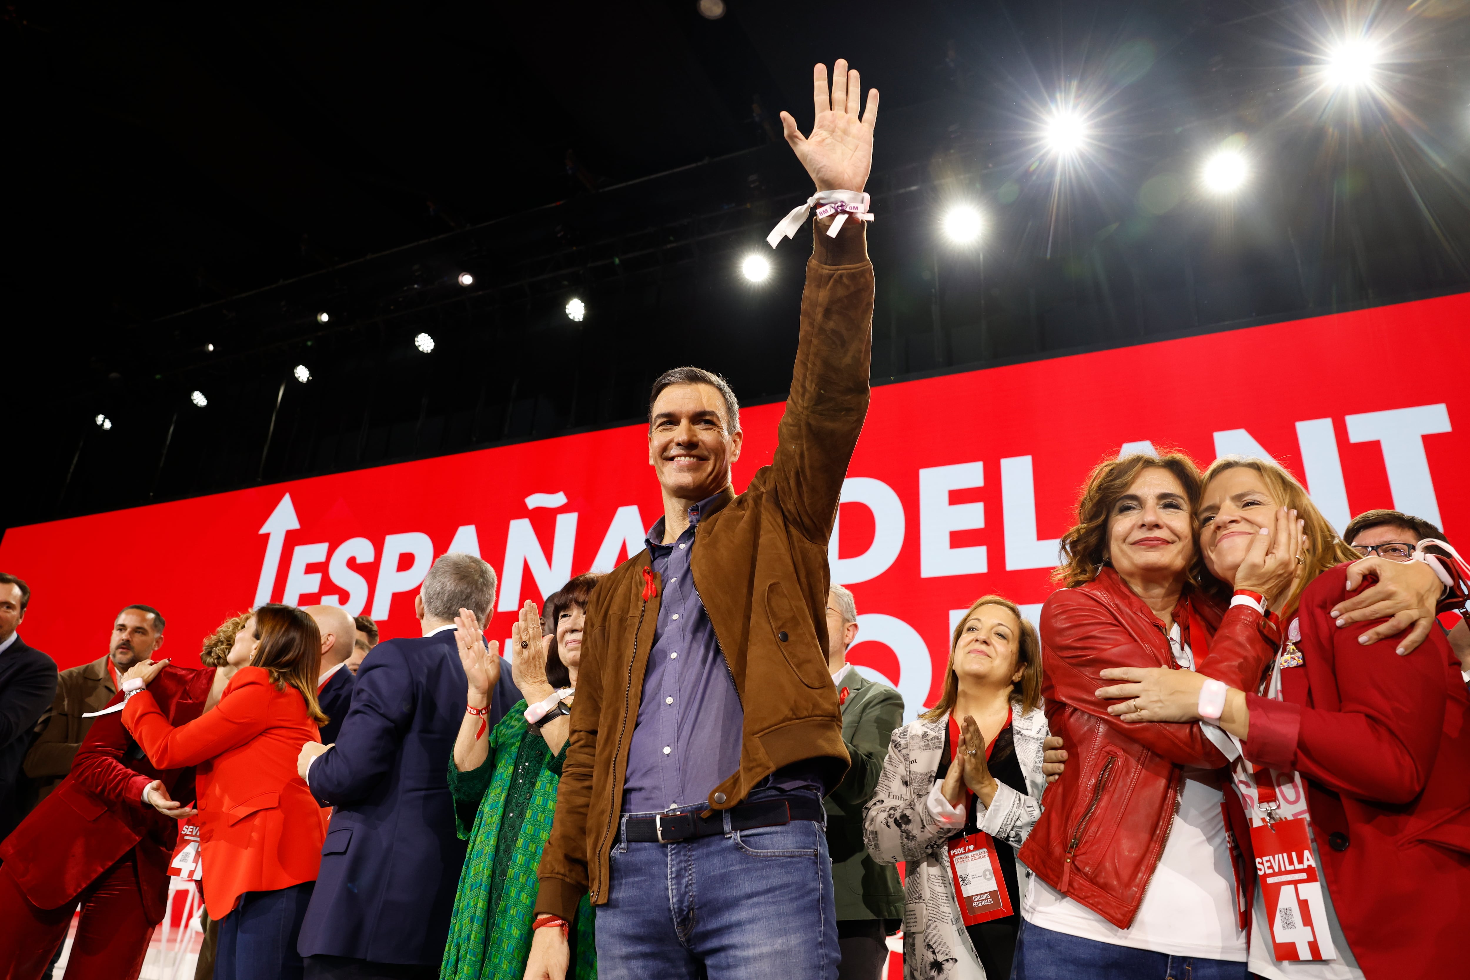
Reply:
[[[169,723],[185,724],[204,710],[213,682],[213,667],[169,664],[151,691]],[[194,796],[191,770],[156,768],[122,727],[121,713],[101,716],[76,749],[71,774],[0,845],[4,870],[34,905],[60,908],[131,848],[144,914],[162,921],[178,821],[144,807],[143,789],[154,779],[179,802]]]

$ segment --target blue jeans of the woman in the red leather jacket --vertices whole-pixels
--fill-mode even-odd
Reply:
[[[1114,946],[1095,939],[1032,926],[1025,918],[1016,937],[1011,980],[1245,980],[1244,962],[1170,956],[1151,949]]]

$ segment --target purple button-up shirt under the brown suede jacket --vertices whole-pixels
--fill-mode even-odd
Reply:
[[[716,500],[689,508],[689,526],[672,545],[663,544],[663,517],[648,530],[645,544],[663,598],[628,745],[625,814],[707,804],[710,790],[739,770],[745,710],[689,573],[694,532]],[[810,770],[801,763],[788,765],[748,798],[806,792],[820,799],[825,789]]]

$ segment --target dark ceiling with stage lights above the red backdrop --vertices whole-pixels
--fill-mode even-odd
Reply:
[[[1157,331],[1470,282],[1464,166],[1470,18],[1463,16],[1470,0],[1377,7],[1374,24],[1392,28],[1391,110],[1351,120],[1341,112],[1332,116],[1302,78],[1344,16],[1366,12],[1352,4],[726,3],[728,13],[717,21],[703,18],[695,0],[6,6],[0,15],[7,132],[0,220],[9,247],[4,383],[24,426],[15,461],[6,464],[12,478],[0,495],[0,527],[153,498],[163,469],[159,444],[166,454],[173,438],[172,408],[134,426],[146,432],[141,442],[119,439],[81,470],[78,433],[100,400],[107,411],[125,413],[129,400],[154,398],[146,388],[156,375],[191,370],[188,359],[201,338],[215,335],[209,325],[220,316],[238,313],[247,323],[241,310],[270,307],[279,319],[282,310],[315,309],[322,295],[362,310],[398,303],[400,281],[413,279],[417,289],[425,285],[423,269],[442,272],[450,256],[509,263],[517,248],[550,256],[584,244],[592,254],[594,238],[614,226],[622,235],[631,228],[628,213],[639,207],[650,215],[663,207],[659,222],[673,220],[679,209],[739,207],[747,209],[747,223],[764,220],[767,204],[789,207],[781,195],[800,190],[801,175],[782,145],[769,145],[779,131],[775,113],[794,110],[807,126],[811,63],[838,54],[883,93],[888,122],[879,123],[878,207],[900,207],[907,200],[900,195],[920,187],[920,197],[932,203],[935,188],[963,176],[989,207],[1030,209],[1014,212],[997,254],[1038,262],[1061,256],[1066,267],[1057,281],[1069,282],[1069,289],[1091,275],[1078,269],[1095,260],[1101,298],[1088,301],[1107,306],[1116,322],[1113,307],[1122,300],[1108,294],[1107,279],[1132,282],[1126,288],[1136,294],[1139,334],[1155,331],[1142,326],[1145,298],[1175,289],[1155,289],[1151,270],[1180,253],[1176,239],[1148,238],[1163,235],[1169,219],[1147,188],[1157,191],[1152,178],[1192,169],[1191,154],[1236,132],[1251,138],[1266,165],[1257,178],[1263,190],[1257,206],[1272,215],[1260,220],[1285,222],[1270,231],[1257,223],[1258,237],[1270,238],[1276,251],[1263,251],[1269,256],[1257,256],[1254,267],[1267,276],[1295,263],[1294,298],[1229,306],[1229,294],[1244,294],[1255,275],[1250,263],[1232,259],[1214,288],[1235,313],[1201,316],[1207,303],[1197,295],[1195,278],[1205,273],[1186,260],[1179,276],[1180,284],[1188,281],[1191,313],[1163,317]],[[1035,134],[1047,104],[1073,91],[1094,116],[1098,166],[1064,184],[1051,181],[1045,167],[1038,170]],[[1364,156],[1366,145],[1377,147],[1376,156]],[[714,163],[644,181],[707,160]],[[1388,190],[1379,194],[1380,187]],[[698,201],[700,194],[709,200]],[[754,206],[761,195],[770,201]],[[1370,200],[1377,200],[1379,215],[1366,225],[1358,215]],[[507,216],[519,217],[487,225]],[[1238,239],[1250,235],[1247,217],[1242,212],[1232,226]],[[923,231],[919,225],[908,231],[914,229]],[[1180,226],[1177,241],[1195,231]],[[1210,234],[1219,237],[1217,229]],[[1127,263],[1111,272],[1097,254],[1083,256],[1082,264],[1063,254],[1097,253],[1108,235],[1125,242],[1117,248],[1132,250]],[[931,250],[923,237],[897,234],[888,247],[903,241],[913,247],[904,245],[907,254],[900,250],[885,269]],[[626,238],[607,245],[607,260],[616,264],[623,247]],[[1376,256],[1389,253],[1401,267],[1385,272],[1392,263]],[[369,256],[379,259],[359,262]],[[1317,284],[1308,282],[1314,262],[1324,270]],[[1372,267],[1379,270],[1377,284]],[[1030,332],[1017,351],[1126,341],[1105,331],[1091,339],[1061,331],[1067,339],[1058,341],[1057,317],[1048,336],[1036,294],[1041,289],[1044,306],[1058,303],[1060,294],[1047,295],[1042,281],[1026,275],[1032,278],[1013,284],[1022,297],[1013,306],[1029,303]],[[923,279],[929,281],[928,272]],[[936,281],[922,285],[913,270],[914,289],[939,297]],[[1097,292],[1097,287],[1088,288]],[[903,298],[904,284],[881,275],[879,291]],[[989,292],[1000,297],[991,307],[995,317],[1005,297],[1001,289]],[[698,300],[698,291],[691,295]],[[894,304],[886,313],[889,375],[1007,353],[994,338],[983,339],[983,307],[982,341],[973,356],[961,357],[945,348],[957,339],[941,342],[941,298],[932,303],[932,342],[904,336],[910,328],[900,322],[903,303]],[[928,323],[929,298],[908,306]],[[465,316],[490,317],[503,336],[509,329],[503,307],[501,297],[479,311],[466,307]],[[363,313],[369,320],[379,323],[375,342],[387,344],[379,313]],[[285,339],[262,323],[240,328],[241,336],[259,339],[260,351],[268,342],[272,351],[287,341],[310,344],[310,323],[293,328]],[[359,344],[362,363],[353,367],[357,375],[344,373],[343,383],[370,389],[407,370],[391,366],[397,361],[390,364],[378,348],[362,347],[362,338],[351,342]],[[932,348],[933,357],[916,359],[904,353],[910,348]],[[238,348],[241,356],[248,350]],[[262,354],[259,363],[266,360]],[[754,381],[756,391],[779,395],[776,375],[788,370],[779,367],[775,381]],[[238,376],[253,369],[245,357],[228,370]],[[573,397],[553,428],[626,417],[626,406],[637,410],[641,375],[631,373],[628,383],[631,395],[619,394],[609,403],[614,407],[592,416],[585,408],[579,414]],[[507,376],[503,386],[510,395],[504,423],[490,425],[494,438],[520,432],[510,422],[514,382]],[[276,382],[260,388],[265,394],[251,395],[250,417],[263,411],[273,428],[269,400],[279,400]],[[397,425],[416,416],[413,432],[419,432],[434,408],[426,394],[422,406],[417,394],[409,401],[407,422]],[[484,389],[479,401],[487,401]],[[485,442],[481,407],[473,407],[465,439],[453,445]],[[250,425],[265,438],[263,417]],[[369,430],[366,416],[360,428],[359,447]],[[531,433],[531,428],[523,432]],[[397,455],[447,451],[451,444],[407,445]],[[307,463],[279,469],[266,466],[260,448],[254,453],[259,469],[251,463],[213,482],[173,489],[165,480],[163,495],[373,458],[359,448],[351,458],[320,461],[320,453],[312,455],[309,448]],[[394,455],[385,450],[376,458]],[[78,498],[72,489],[68,497],[74,472],[85,483],[116,480],[126,492]],[[25,475],[21,483],[15,473]]]

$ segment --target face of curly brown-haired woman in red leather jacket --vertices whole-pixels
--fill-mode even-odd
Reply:
[[[1175,577],[1194,561],[1194,525],[1183,483],[1169,470],[1139,470],[1113,504],[1107,526],[1107,558],[1125,582]]]

